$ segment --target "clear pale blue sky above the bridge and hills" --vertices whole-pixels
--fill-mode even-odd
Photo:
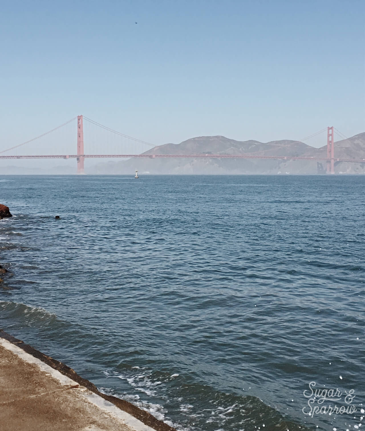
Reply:
[[[78,114],[153,144],[327,125],[352,136],[365,131],[364,12],[363,0],[2,2],[0,147]]]

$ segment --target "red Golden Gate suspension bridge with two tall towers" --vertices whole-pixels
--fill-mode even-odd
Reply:
[[[68,154],[54,154],[54,155],[35,155],[35,154],[12,154],[12,155],[4,155],[4,153],[11,151],[11,150],[17,150],[19,147],[23,147],[26,144],[30,144],[34,141],[37,141],[41,139],[42,137],[45,137],[48,134],[51,134],[52,132],[57,131],[60,128],[63,128],[64,126],[72,123],[77,118],[77,144],[76,144],[76,154],[68,153]],[[73,119],[70,119],[66,123],[63,123],[62,125],[44,133],[41,134],[33,139],[30,139],[29,141],[23,142],[22,144],[15,145],[13,147],[7,148],[6,150],[0,151],[0,159],[76,159],[77,161],[77,173],[78,174],[84,174],[84,162],[85,159],[106,159],[106,158],[149,158],[149,159],[155,159],[155,158],[205,158],[205,159],[281,159],[281,160],[313,160],[313,161],[324,161],[327,163],[327,174],[334,174],[334,163],[335,162],[357,162],[357,163],[364,163],[364,159],[339,159],[334,157],[334,134],[333,134],[333,126],[327,127],[327,157],[305,157],[305,156],[287,156],[287,155],[280,155],[280,156],[265,156],[265,155],[258,155],[258,154],[146,154],[146,152],[143,153],[137,153],[137,154],[131,154],[131,153],[120,153],[120,154],[85,154],[84,150],[84,127],[83,127],[83,120],[86,120],[92,125],[95,125],[99,128],[102,128],[108,132],[111,132],[112,134],[116,134],[119,137],[125,138],[128,141],[132,141],[134,143],[143,144],[145,147],[157,147],[156,145],[150,144],[146,141],[141,141],[139,139],[136,139],[134,137],[122,134],[118,131],[115,131],[111,128],[108,128],[107,126],[104,126],[98,122],[95,122],[91,119],[88,119],[87,117],[84,117],[82,115],[74,117]],[[326,129],[323,129],[319,132],[316,132],[315,134],[309,136],[313,137]],[[304,138],[305,140],[307,138]],[[303,141],[302,140],[302,141]],[[301,141],[298,141],[301,142]]]

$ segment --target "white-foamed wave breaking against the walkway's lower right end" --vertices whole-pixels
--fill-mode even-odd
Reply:
[[[287,420],[258,397],[225,393],[177,373],[124,365],[123,372],[110,369],[104,372],[107,379],[119,378],[127,383],[124,393],[115,390],[115,384],[102,388],[102,391],[129,401],[178,431],[208,429],[206,427],[215,430],[260,429],[265,425],[267,429],[308,429],[291,418]],[[173,419],[168,414],[170,411],[175,412]],[[286,427],[280,428],[283,424]]]

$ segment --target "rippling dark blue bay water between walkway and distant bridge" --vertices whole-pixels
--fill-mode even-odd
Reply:
[[[0,327],[178,430],[365,428],[364,186],[0,176]]]

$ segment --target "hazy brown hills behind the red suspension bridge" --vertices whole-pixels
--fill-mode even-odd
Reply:
[[[326,157],[327,146],[314,148],[299,141],[235,141],[224,136],[199,136],[180,144],[165,144],[146,151],[154,154],[250,154],[256,156]],[[365,159],[365,133],[335,142],[335,157]],[[99,163],[88,173],[131,174],[321,174],[326,162],[282,159],[129,159],[122,162]],[[336,173],[365,173],[365,163],[335,163]]]

